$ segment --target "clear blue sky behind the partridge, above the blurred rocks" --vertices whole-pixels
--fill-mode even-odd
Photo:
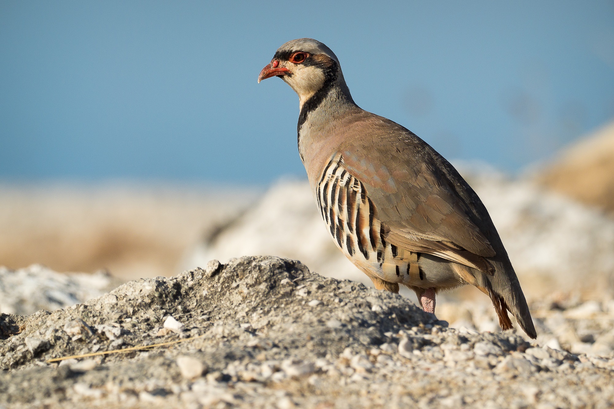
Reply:
[[[0,2],[0,180],[303,176],[282,43],[449,159],[515,172],[614,117],[614,3]]]

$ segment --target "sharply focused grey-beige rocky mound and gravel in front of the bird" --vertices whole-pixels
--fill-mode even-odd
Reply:
[[[184,327],[165,327],[169,316]],[[243,257],[132,281],[52,313],[0,314],[0,405],[607,407],[614,359],[446,328],[406,298]],[[93,351],[201,338],[47,364]]]

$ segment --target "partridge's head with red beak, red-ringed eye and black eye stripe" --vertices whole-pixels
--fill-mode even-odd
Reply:
[[[347,89],[335,53],[311,38],[292,40],[279,47],[273,60],[260,71],[258,82],[271,77],[280,77],[290,85],[301,107],[327,85],[336,83]]]

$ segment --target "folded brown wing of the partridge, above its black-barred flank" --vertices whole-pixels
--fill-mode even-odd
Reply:
[[[426,142],[397,126],[405,132],[380,133],[368,138],[372,142],[355,139],[336,152],[340,166],[365,185],[386,240],[491,272],[484,257],[495,251],[478,227],[479,198]],[[446,174],[445,165],[455,174]]]

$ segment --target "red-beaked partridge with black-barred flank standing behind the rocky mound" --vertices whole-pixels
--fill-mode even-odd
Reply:
[[[260,71],[298,95],[298,152],[336,246],[376,289],[413,290],[435,313],[438,292],[466,284],[536,338],[518,277],[486,207],[445,158],[407,128],[360,108],[325,44],[281,45]]]

